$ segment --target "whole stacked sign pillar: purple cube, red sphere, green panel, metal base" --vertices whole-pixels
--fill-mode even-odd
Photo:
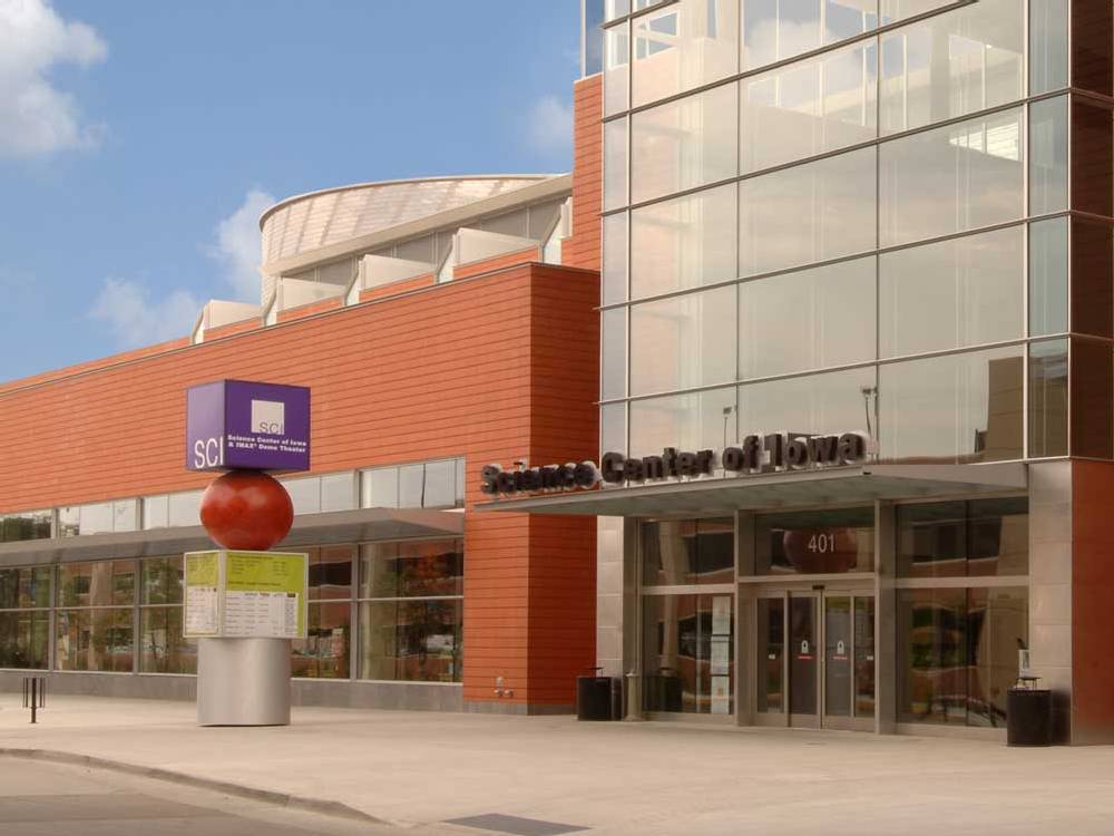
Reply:
[[[217,548],[185,556],[183,632],[197,639],[201,726],[290,725],[290,642],[309,619],[309,555],[266,551],[294,509],[266,472],[310,468],[310,390],[218,380],[186,397],[186,468],[224,472],[202,496]]]

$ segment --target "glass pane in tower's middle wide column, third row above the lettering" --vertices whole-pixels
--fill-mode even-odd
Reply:
[[[742,275],[874,249],[874,149],[840,154],[739,184]]]

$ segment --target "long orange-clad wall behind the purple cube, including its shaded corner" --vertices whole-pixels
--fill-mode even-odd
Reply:
[[[219,378],[313,391],[313,472],[463,455],[479,468],[593,458],[594,272],[525,264],[0,391],[0,508],[199,487],[185,390]],[[594,522],[469,513],[465,697],[570,704],[594,659]],[[538,654],[538,660],[531,658]]]

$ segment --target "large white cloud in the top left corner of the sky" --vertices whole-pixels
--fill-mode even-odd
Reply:
[[[49,0],[0,0],[0,156],[29,157],[96,145],[104,127],[82,123],[74,97],[48,80],[55,65],[89,67],[108,47]]]

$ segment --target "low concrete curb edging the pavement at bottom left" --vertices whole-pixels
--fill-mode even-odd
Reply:
[[[292,807],[294,809],[320,813],[326,816],[349,818],[358,822],[374,825],[395,825],[398,823],[377,818],[375,816],[358,810],[341,801],[329,801],[322,798],[307,798],[305,796],[290,795],[289,793],[276,793],[270,789],[258,789],[243,784],[232,784],[231,781],[216,780],[214,778],[199,778],[186,772],[176,772],[173,769],[162,769],[159,767],[145,767],[137,764],[128,764],[124,760],[111,760],[109,758],[97,758],[91,755],[78,755],[76,752],[59,751],[57,749],[18,749],[0,747],[0,757],[23,758],[25,760],[45,760],[52,764],[69,764],[72,766],[84,766],[94,769],[105,769],[113,772],[137,776],[140,778],[154,778],[155,780],[179,784],[187,787],[208,789],[238,798],[251,798],[256,801],[274,804],[280,807]]]

